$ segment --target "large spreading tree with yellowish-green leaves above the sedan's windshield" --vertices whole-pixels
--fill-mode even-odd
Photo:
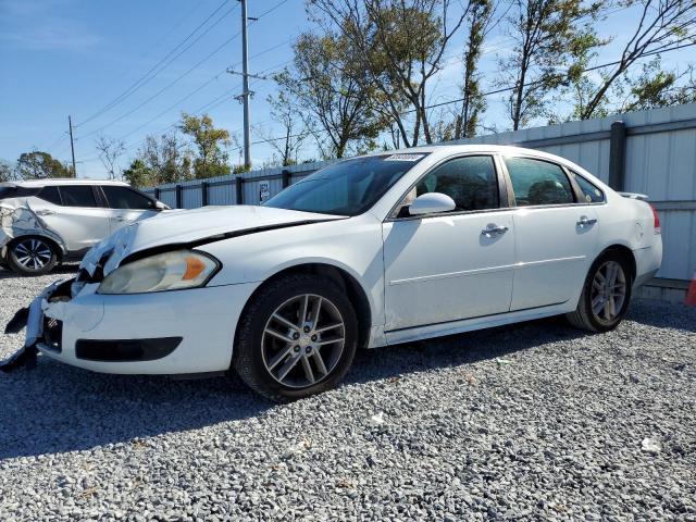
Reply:
[[[377,90],[399,142],[433,142],[427,102],[445,51],[470,4],[449,0],[311,0],[352,47],[355,77]],[[395,136],[396,137],[396,136]]]

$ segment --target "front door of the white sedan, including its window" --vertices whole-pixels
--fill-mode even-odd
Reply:
[[[406,206],[425,192],[446,194],[457,208],[409,216]],[[450,159],[414,185],[383,225],[387,331],[509,310],[514,223],[501,207],[492,156]]]

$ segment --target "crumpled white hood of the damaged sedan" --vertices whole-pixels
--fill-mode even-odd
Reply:
[[[98,268],[107,275],[128,256],[161,247],[194,248],[229,237],[286,226],[345,219],[271,207],[203,207],[162,213],[133,223],[107,237],[87,252],[80,269],[94,276]]]

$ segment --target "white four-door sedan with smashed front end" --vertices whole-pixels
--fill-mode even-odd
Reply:
[[[608,331],[661,257],[651,207],[562,158],[382,152],[261,207],[123,228],[34,300],[24,355],[122,374],[234,370],[291,400],[336,386],[361,347],[557,314]]]

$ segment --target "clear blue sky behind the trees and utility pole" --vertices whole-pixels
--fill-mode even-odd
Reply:
[[[0,0],[0,159],[13,162],[21,152],[39,149],[69,160],[69,114],[75,125],[80,176],[104,175],[95,150],[99,134],[124,138],[125,165],[147,134],[166,130],[176,123],[181,111],[206,109],[217,125],[240,137],[241,105],[233,98],[240,91],[240,77],[224,73],[227,66],[238,65],[241,57],[240,38],[235,37],[240,13],[235,0],[217,10],[222,4],[223,0]],[[312,28],[304,3],[249,0],[248,5],[249,16],[274,8],[249,26],[250,70],[266,74],[278,71],[291,59],[289,40]],[[139,87],[129,96],[97,114],[213,12],[201,30],[154,70],[159,71],[156,76],[136,84]],[[605,23],[602,28],[614,35],[616,41],[602,50],[597,63],[616,59],[632,20],[634,13],[629,12]],[[209,30],[196,41],[206,29]],[[189,44],[191,47],[176,57]],[[489,55],[504,55],[508,50],[509,39],[493,35]],[[666,63],[683,67],[688,55],[688,49],[675,51],[666,57]],[[460,57],[461,47],[455,42],[448,65],[432,92],[432,102],[457,97]],[[494,79],[494,61],[486,67],[486,79]],[[274,134],[265,102],[274,91],[273,83],[257,80],[251,89],[256,92],[252,124]],[[487,121],[506,128],[500,100],[492,99],[489,105]],[[252,139],[259,136],[252,134]],[[231,151],[235,162],[238,153]],[[268,145],[252,149],[257,165],[271,156]],[[316,157],[316,151],[310,146],[303,157]]]

